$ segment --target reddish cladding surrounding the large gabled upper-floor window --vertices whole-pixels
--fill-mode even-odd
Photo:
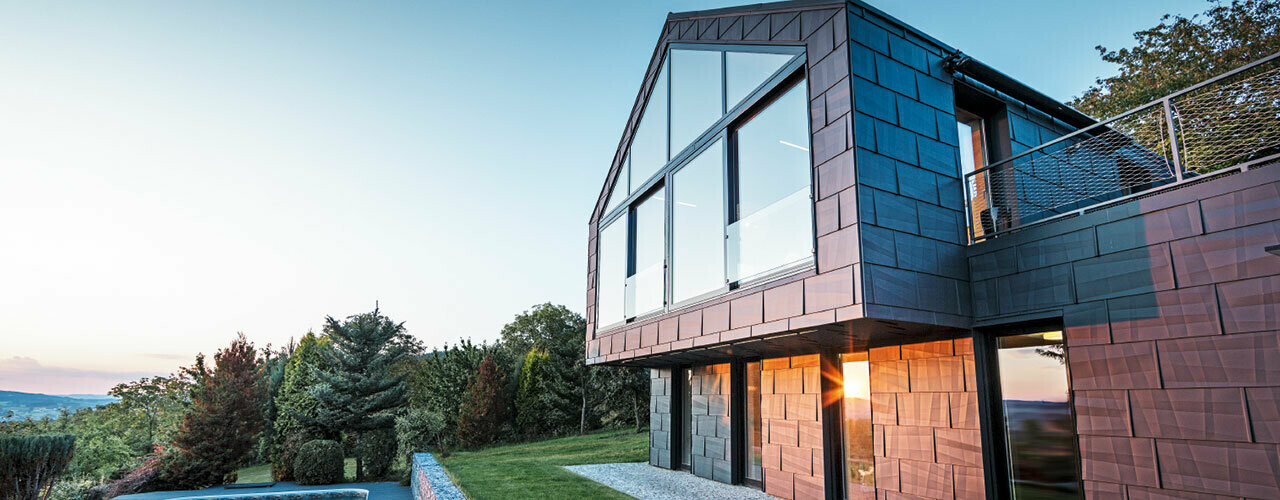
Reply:
[[[750,336],[832,324],[860,317],[855,307],[859,275],[856,196],[851,136],[849,51],[844,4],[809,5],[748,15],[671,19],[663,28],[655,59],[643,88],[657,75],[657,55],[669,42],[803,45],[808,59],[810,132],[817,198],[815,270],[759,286],[736,290],[705,303],[596,332],[596,223],[604,197],[589,225],[586,359],[616,362],[690,349]],[[623,130],[609,179],[617,175],[625,146],[636,124],[643,91]],[[608,184],[607,184],[608,185]]]

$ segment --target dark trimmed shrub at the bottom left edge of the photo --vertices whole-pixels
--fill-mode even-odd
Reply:
[[[0,491],[6,500],[47,499],[74,453],[69,434],[0,437]]]

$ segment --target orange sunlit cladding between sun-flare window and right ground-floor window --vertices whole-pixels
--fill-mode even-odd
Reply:
[[[986,497],[977,390],[972,339],[870,350],[879,497]]]

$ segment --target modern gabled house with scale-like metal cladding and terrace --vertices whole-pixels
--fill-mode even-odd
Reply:
[[[588,363],[785,499],[1280,497],[1276,63],[1100,123],[859,1],[671,14]]]

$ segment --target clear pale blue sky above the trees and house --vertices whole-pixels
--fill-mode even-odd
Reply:
[[[430,347],[582,312],[586,219],[668,12],[744,1],[0,1],[0,390],[104,393],[243,331]],[[901,1],[1066,100],[1202,1]]]

